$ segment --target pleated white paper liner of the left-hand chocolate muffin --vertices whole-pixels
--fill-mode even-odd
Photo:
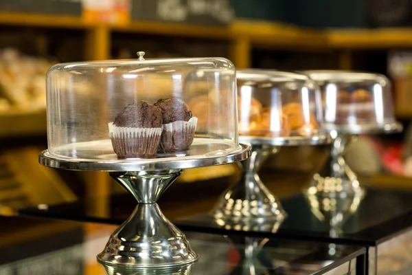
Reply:
[[[117,157],[153,157],[159,148],[161,128],[118,127],[108,124],[113,151]]]

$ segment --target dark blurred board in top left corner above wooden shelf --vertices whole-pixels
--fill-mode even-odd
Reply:
[[[0,10],[82,16],[82,0],[0,0]]]

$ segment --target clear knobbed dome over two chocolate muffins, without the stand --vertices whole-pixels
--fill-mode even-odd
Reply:
[[[68,162],[133,162],[152,168],[173,158],[225,157],[238,144],[236,70],[225,58],[139,59],[63,63],[47,73],[48,156]],[[185,89],[202,74],[214,92]],[[218,98],[218,104],[216,104]],[[207,111],[196,117],[196,105]],[[196,109],[194,109],[196,108]],[[141,162],[141,166],[136,166]],[[52,166],[52,165],[50,165]],[[170,166],[170,165],[169,165]],[[96,166],[93,166],[96,167]],[[62,168],[62,167],[60,167]],[[90,167],[84,167],[84,170]]]

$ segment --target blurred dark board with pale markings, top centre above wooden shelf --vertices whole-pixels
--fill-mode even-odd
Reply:
[[[234,12],[230,0],[132,0],[131,19],[228,25]]]

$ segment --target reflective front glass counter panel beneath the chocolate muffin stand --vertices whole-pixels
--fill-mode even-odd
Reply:
[[[358,274],[356,267],[360,268],[365,253],[364,248],[351,245],[188,232],[187,239],[201,254],[197,263],[172,269],[124,269],[100,265],[95,259],[113,225],[20,217],[0,217],[0,224],[10,228],[0,227],[2,275],[352,275]]]

